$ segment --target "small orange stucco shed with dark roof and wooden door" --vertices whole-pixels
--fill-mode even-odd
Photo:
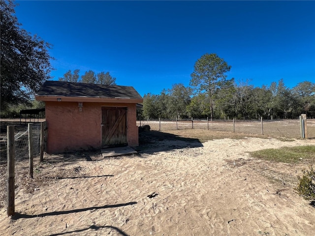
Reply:
[[[35,99],[45,102],[48,153],[139,144],[133,87],[46,81]]]

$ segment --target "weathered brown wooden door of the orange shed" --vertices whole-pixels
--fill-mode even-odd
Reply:
[[[126,114],[126,107],[102,107],[102,148],[128,144]]]

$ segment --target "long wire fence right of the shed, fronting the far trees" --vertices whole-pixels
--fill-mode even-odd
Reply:
[[[150,125],[152,130],[208,129],[284,138],[300,138],[299,119],[150,119],[137,120],[138,126]],[[308,138],[315,138],[315,119],[307,120]]]

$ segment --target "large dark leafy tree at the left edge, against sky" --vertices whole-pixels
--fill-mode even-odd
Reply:
[[[9,105],[27,103],[51,78],[53,69],[50,64],[53,58],[48,53],[52,45],[22,29],[14,7],[11,0],[0,1],[1,110]]]

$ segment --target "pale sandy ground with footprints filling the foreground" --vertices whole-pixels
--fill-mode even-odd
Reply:
[[[164,140],[124,157],[48,156],[41,172],[55,178],[19,191],[14,217],[0,210],[0,234],[313,236],[315,208],[293,189],[307,166],[248,153],[300,145],[315,140]]]

